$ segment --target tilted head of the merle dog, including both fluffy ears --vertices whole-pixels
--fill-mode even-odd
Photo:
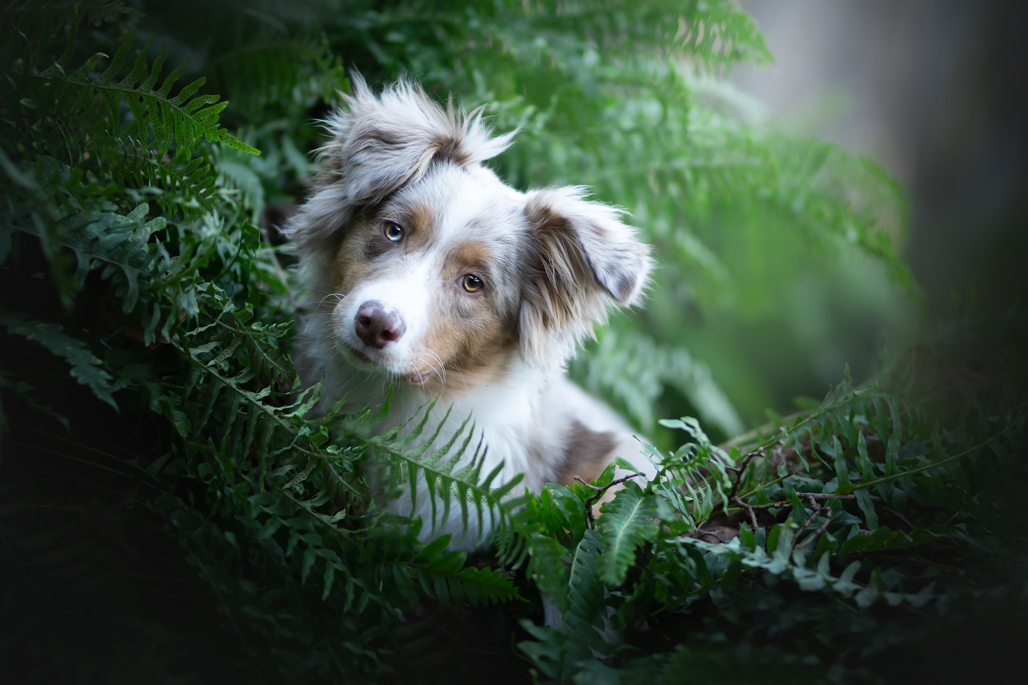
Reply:
[[[376,98],[353,80],[287,231],[320,265],[314,304],[329,316],[314,321],[330,330],[315,335],[439,391],[444,372],[487,377],[508,352],[561,364],[608,303],[639,298],[649,248],[619,211],[576,187],[518,192],[481,165],[513,134],[490,138],[480,113],[406,82]]]

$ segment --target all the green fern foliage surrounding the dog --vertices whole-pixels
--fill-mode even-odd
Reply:
[[[857,682],[1023,613],[1020,311],[968,313],[715,446],[809,387],[813,350],[862,353],[868,319],[917,294],[894,185],[765,129],[719,80],[769,59],[733,4],[53,2],[3,21],[5,673]],[[191,61],[166,75],[166,55]],[[487,104],[522,128],[508,179],[592,185],[657,245],[648,308],[573,367],[656,445],[658,478],[598,517],[613,466],[514,496],[466,426],[304,419],[318,388],[296,393],[273,225],[350,65]],[[689,413],[703,425],[656,421]],[[424,431],[450,439],[428,453]],[[372,465],[487,517],[490,544],[418,541]],[[544,625],[543,598],[562,620]]]

